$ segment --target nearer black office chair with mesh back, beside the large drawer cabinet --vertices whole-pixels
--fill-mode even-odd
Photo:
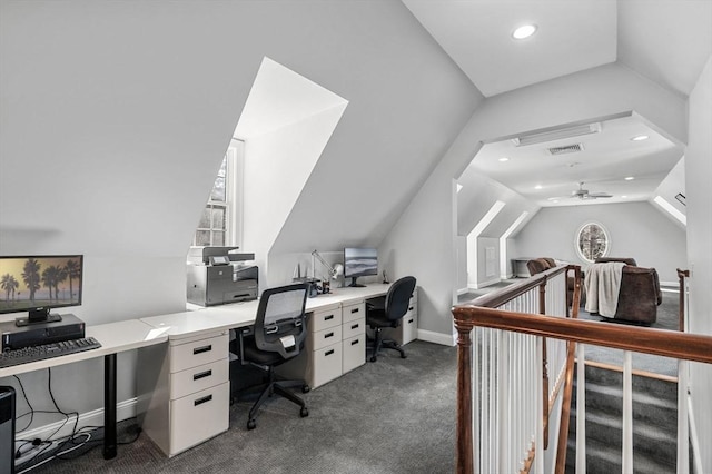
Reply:
[[[301,407],[299,415],[308,416],[306,403],[287,388],[301,387],[309,392],[305,381],[278,381],[275,367],[296,357],[307,337],[304,307],[308,285],[296,284],[269,288],[263,293],[255,319],[253,336],[240,335],[240,361],[267,373],[267,382],[249,411],[247,429],[257,426],[255,418],[259,407],[273,394],[280,395]]]

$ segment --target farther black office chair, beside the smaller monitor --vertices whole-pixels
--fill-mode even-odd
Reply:
[[[411,296],[415,290],[415,277],[407,276],[395,282],[383,298],[374,298],[366,304],[366,323],[374,329],[374,348],[370,362],[376,362],[382,348],[394,349],[400,353],[400,358],[406,358],[405,352],[398,343],[392,339],[383,339],[380,329],[384,327],[398,327],[400,319],[408,312]]]

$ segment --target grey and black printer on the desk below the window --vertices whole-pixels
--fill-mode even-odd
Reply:
[[[255,254],[238,247],[190,247],[187,263],[188,303],[199,306],[257,299],[259,270],[246,261]]]

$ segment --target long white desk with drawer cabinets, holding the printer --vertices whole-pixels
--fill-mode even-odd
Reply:
[[[353,318],[356,316],[363,320],[359,327],[363,336],[352,337],[363,339],[358,348],[363,353],[360,364],[364,364],[364,302],[385,295],[389,286],[375,284],[356,288],[333,288],[332,294],[308,298],[306,310],[313,319],[308,323],[310,333],[307,346],[316,337],[313,332],[318,327],[317,315],[334,312],[329,323],[335,327],[332,339],[339,347],[338,371],[328,367],[326,375],[319,376],[318,382],[314,383],[309,382],[314,381],[309,378],[309,371],[314,371],[297,366],[295,371],[300,376],[296,378],[305,378],[315,387],[342,374],[342,308],[349,308],[349,316],[344,318],[348,320],[349,328],[354,325]],[[168,335],[167,348],[157,346],[139,354],[137,383],[137,395],[142,401],[139,416],[144,433],[154,440],[166,455],[174,456],[228,429],[229,329],[254,325],[258,305],[257,300],[251,300],[141,319]],[[362,308],[360,313],[353,314],[350,309],[358,305]],[[306,350],[310,350],[309,347]],[[313,366],[308,357],[297,359],[308,367]],[[349,369],[355,366],[352,363]]]

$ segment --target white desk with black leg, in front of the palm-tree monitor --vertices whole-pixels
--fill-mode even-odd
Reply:
[[[168,336],[165,330],[156,329],[138,319],[87,326],[86,335],[97,339],[101,347],[0,368],[0,378],[103,356],[103,458],[110,460],[117,453],[116,355],[120,352],[165,343]]]

